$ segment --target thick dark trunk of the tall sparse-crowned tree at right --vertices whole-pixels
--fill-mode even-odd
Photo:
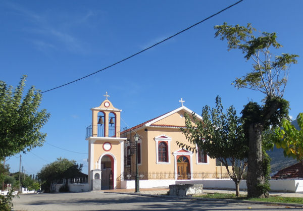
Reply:
[[[262,172],[262,132],[261,123],[252,123],[249,125],[249,151],[247,167],[247,197],[264,198],[263,192],[258,189],[258,184],[264,184]]]

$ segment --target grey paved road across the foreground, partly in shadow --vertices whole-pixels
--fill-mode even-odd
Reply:
[[[139,195],[104,193],[43,193],[24,194],[14,198],[14,210],[301,210],[302,207],[230,203],[225,201],[200,201],[189,199],[146,197]]]

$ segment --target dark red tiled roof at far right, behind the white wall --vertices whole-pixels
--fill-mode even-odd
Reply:
[[[285,169],[278,171],[277,174],[271,177],[272,179],[296,179],[303,178],[303,164],[297,163]]]

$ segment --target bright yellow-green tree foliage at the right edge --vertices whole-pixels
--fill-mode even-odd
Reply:
[[[298,114],[297,130],[290,121],[282,121],[282,127],[277,127],[271,133],[271,138],[276,143],[277,148],[283,148],[285,156],[292,157],[303,165],[303,113]],[[301,175],[303,177],[303,175]]]

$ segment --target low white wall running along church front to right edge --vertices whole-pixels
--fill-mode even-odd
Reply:
[[[140,188],[168,187],[173,184],[203,184],[207,189],[235,189],[234,181],[230,179],[218,180],[140,180]],[[303,192],[303,180],[269,180],[271,191]],[[135,188],[134,180],[121,181],[122,189]],[[246,180],[240,182],[241,190],[247,189]]]

